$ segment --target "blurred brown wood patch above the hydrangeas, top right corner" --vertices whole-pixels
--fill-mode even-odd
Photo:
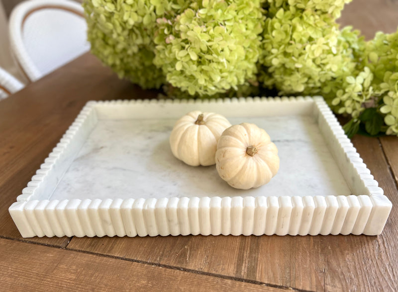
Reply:
[[[375,33],[392,33],[398,27],[397,0],[353,0],[346,4],[338,22],[361,30],[365,39],[373,39]]]

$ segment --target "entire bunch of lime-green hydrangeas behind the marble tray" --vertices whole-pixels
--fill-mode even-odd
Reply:
[[[354,134],[398,135],[398,31],[365,42],[351,0],[83,0],[92,52],[172,98],[322,95]]]

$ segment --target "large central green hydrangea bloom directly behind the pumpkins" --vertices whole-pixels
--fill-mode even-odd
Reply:
[[[237,90],[256,79],[264,14],[260,1],[203,0],[158,19],[154,64],[190,95]]]

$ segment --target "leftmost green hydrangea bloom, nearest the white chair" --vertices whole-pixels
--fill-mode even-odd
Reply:
[[[156,19],[172,11],[168,0],[84,0],[91,51],[121,78],[143,88],[165,81],[153,64]]]

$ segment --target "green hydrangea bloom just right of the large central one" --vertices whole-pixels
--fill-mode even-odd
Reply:
[[[325,83],[355,69],[348,36],[358,43],[358,32],[340,31],[329,14],[280,7],[265,22],[260,80],[280,94],[320,93]]]

